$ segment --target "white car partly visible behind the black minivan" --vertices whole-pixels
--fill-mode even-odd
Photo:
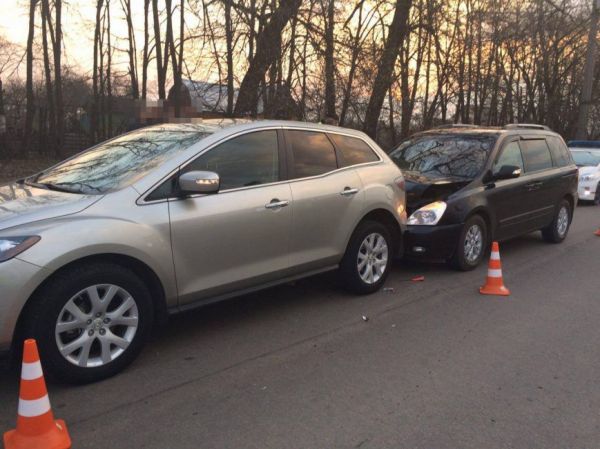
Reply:
[[[600,142],[569,142],[569,149],[579,167],[579,200],[600,203]]]

